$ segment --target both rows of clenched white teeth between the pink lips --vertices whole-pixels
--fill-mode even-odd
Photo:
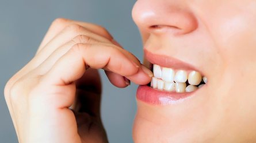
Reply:
[[[151,81],[151,87],[169,92],[193,92],[201,87],[197,87],[197,85],[199,85],[202,80],[207,83],[207,78],[202,77],[201,74],[196,71],[192,71],[189,74],[185,70],[177,70],[175,72],[174,69],[154,64],[153,73],[154,77]],[[186,86],[186,81],[188,81],[190,85]]]

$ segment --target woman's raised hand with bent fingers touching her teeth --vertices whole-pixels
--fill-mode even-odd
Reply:
[[[152,76],[104,28],[56,19],[35,57],[5,87],[18,141],[108,142],[97,69],[119,88],[129,80],[148,84]]]

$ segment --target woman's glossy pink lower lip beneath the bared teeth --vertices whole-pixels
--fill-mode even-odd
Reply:
[[[146,102],[147,104],[151,105],[170,105],[184,101],[186,98],[191,97],[193,93],[194,92],[164,92],[157,89],[152,89],[147,85],[141,85],[139,88],[137,88],[136,97],[137,100]]]

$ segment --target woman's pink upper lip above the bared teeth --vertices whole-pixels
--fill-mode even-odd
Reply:
[[[198,70],[193,65],[190,65],[189,63],[183,62],[169,55],[154,54],[147,49],[144,49],[144,58],[146,58],[148,62],[162,67],[169,67],[179,70],[195,70],[197,72],[200,72],[200,70]]]

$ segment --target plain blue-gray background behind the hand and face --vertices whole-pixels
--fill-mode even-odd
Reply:
[[[135,0],[5,1],[0,0],[0,142],[17,142],[3,97],[6,81],[35,54],[51,22],[58,17],[97,23],[142,59],[139,32],[131,18]],[[136,85],[117,89],[101,71],[102,118],[109,142],[133,142]]]

